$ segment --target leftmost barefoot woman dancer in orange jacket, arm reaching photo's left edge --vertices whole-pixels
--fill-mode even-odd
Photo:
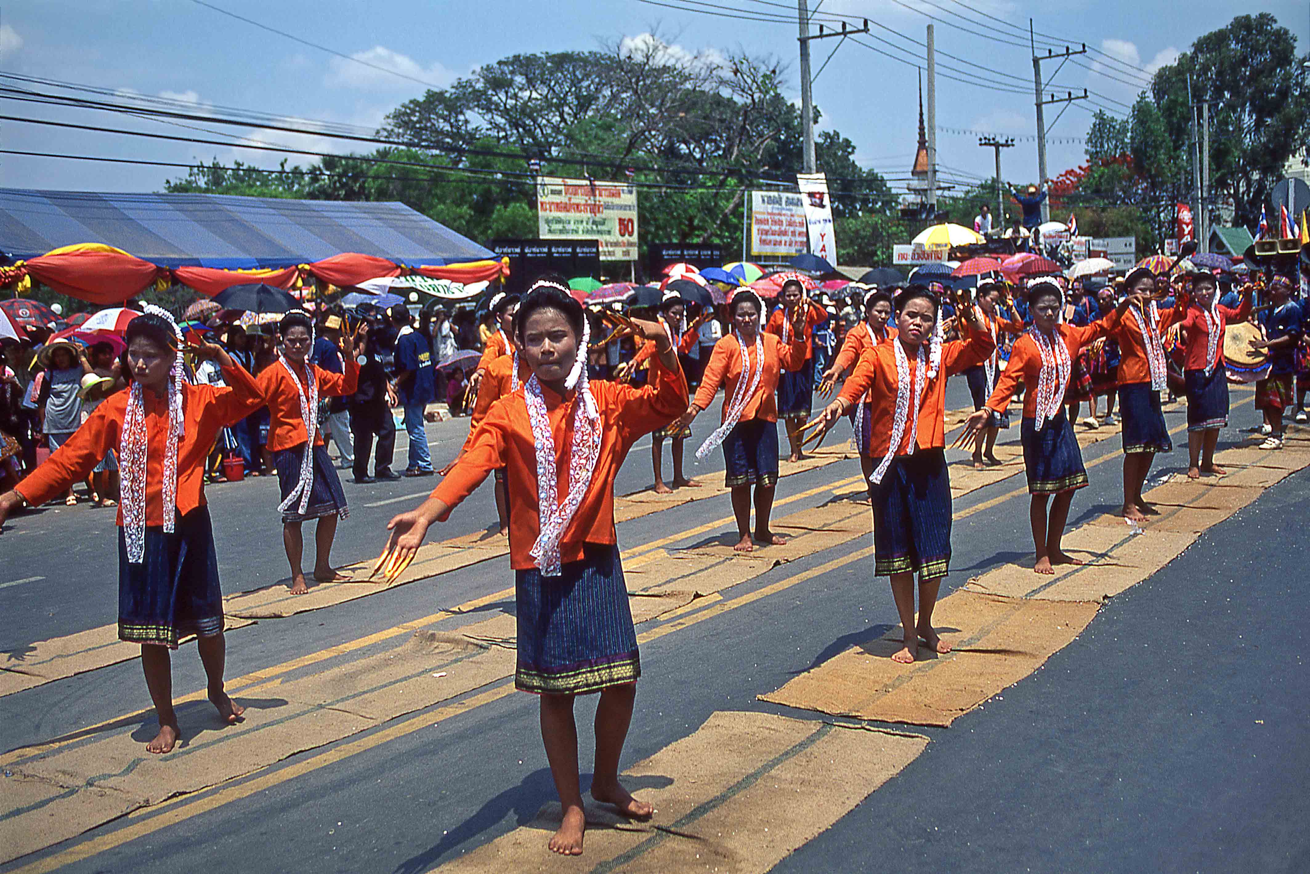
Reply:
[[[196,637],[219,716],[233,724],[244,710],[223,690],[223,591],[204,466],[219,432],[250,415],[263,398],[254,378],[215,343],[193,351],[223,368],[227,386],[187,382],[177,322],[157,306],[144,310],[124,331],[122,372],[128,387],[105,399],[45,464],[0,495],[0,527],[16,506],[46,502],[85,479],[106,451],[118,451],[118,637],[141,645],[160,725],[145,750],[162,754],[181,738],[169,650],[187,635]]]

